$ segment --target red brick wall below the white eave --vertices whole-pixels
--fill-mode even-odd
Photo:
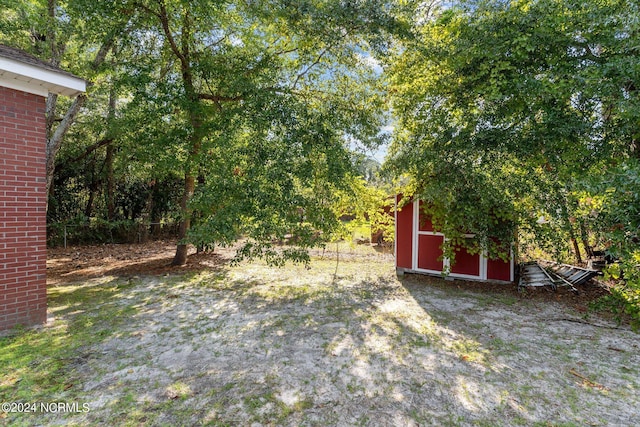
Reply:
[[[45,98],[0,87],[0,330],[47,317]]]

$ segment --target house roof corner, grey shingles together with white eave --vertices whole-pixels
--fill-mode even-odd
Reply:
[[[0,86],[47,96],[76,96],[86,81],[27,52],[0,44]]]

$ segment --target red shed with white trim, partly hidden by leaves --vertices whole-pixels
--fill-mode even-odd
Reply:
[[[396,204],[401,199],[397,196]],[[467,238],[472,239],[469,234]],[[508,262],[490,259],[485,254],[470,254],[464,248],[456,252],[453,265],[442,257],[442,243],[446,236],[434,230],[431,220],[420,209],[420,202],[396,209],[396,271],[441,275],[450,268],[449,277],[465,280],[513,282],[513,253]]]

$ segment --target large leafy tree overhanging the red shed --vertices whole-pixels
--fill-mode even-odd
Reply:
[[[637,17],[623,0],[461,1],[423,17],[392,63],[387,169],[447,235],[487,247],[517,225],[577,242],[574,189],[637,145]]]

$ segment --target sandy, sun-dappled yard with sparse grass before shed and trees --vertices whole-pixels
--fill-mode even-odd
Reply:
[[[87,410],[4,421],[640,425],[639,336],[585,317],[597,287],[520,294],[515,285],[397,278],[392,256],[368,246],[317,252],[309,269],[231,266],[226,250],[176,270],[167,267],[172,250],[51,251],[49,325],[21,334],[61,337],[65,356],[50,356],[64,359],[59,385],[43,394],[21,381],[39,368],[16,362],[0,374],[0,397],[32,393]],[[27,345],[20,336],[2,344]]]

